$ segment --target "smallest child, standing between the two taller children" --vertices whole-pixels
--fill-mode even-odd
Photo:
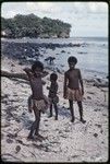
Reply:
[[[51,81],[51,84],[50,84],[50,87],[47,86],[47,89],[49,90],[49,101],[50,101],[50,116],[49,117],[52,117],[52,105],[54,107],[54,112],[56,112],[56,120],[58,120],[58,106],[57,106],[57,103],[59,103],[59,97],[57,95],[57,92],[58,92],[58,83],[57,83],[57,79],[58,79],[58,75],[56,73],[51,73],[50,74],[50,81]]]

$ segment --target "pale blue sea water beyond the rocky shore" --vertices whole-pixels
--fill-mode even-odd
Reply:
[[[57,47],[54,49],[39,48],[39,60],[46,67],[56,70],[57,68],[62,72],[69,69],[68,58],[75,56],[77,58],[76,68],[81,69],[83,77],[99,77],[106,78],[108,75],[109,65],[109,49],[107,37],[70,37],[70,38],[22,38],[22,39],[7,39],[8,42],[17,43],[52,43],[52,44],[83,44],[84,46],[74,47]],[[62,51],[63,50],[63,51]],[[45,59],[47,57],[54,57],[53,65],[49,66]]]

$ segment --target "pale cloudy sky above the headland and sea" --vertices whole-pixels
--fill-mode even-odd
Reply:
[[[34,13],[39,17],[59,19],[72,25],[70,36],[108,36],[109,7],[106,2],[3,2],[1,16]]]

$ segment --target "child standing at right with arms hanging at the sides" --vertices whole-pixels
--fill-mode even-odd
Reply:
[[[72,122],[74,121],[74,108],[73,101],[77,102],[80,110],[80,120],[85,124],[86,120],[83,119],[83,105],[82,99],[84,95],[83,80],[80,69],[75,68],[77,59],[73,56],[69,57],[68,63],[70,69],[64,73],[64,90],[63,97],[69,99],[70,110],[72,115]],[[81,86],[80,86],[81,84]]]

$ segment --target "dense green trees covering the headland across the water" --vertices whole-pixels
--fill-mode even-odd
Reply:
[[[69,37],[71,25],[60,20],[40,19],[34,14],[17,14],[13,19],[1,17],[1,31],[8,37]]]

